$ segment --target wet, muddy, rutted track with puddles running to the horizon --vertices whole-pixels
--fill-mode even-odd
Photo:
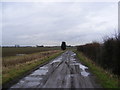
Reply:
[[[11,88],[99,88],[94,75],[88,71],[74,52],[66,51]]]

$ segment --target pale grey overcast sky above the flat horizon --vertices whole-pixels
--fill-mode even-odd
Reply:
[[[118,28],[117,2],[4,2],[2,10],[3,45],[101,42]]]

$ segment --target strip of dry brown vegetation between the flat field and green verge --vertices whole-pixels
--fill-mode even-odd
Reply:
[[[2,60],[2,66],[8,67],[8,66],[30,62],[38,58],[43,59],[45,57],[51,56],[52,54],[56,52],[58,52],[58,50],[39,52],[39,53],[29,54],[29,55],[24,55],[24,56],[5,57]]]

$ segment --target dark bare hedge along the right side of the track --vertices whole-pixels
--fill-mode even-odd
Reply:
[[[118,37],[108,38],[103,44],[93,42],[77,46],[88,58],[114,74],[120,75],[120,40]]]

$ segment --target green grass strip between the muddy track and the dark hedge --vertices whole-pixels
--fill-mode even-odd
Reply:
[[[82,63],[87,65],[91,72],[97,77],[103,88],[120,88],[118,77],[112,73],[105,71],[96,65],[92,60],[86,58],[81,52],[74,51]]]

